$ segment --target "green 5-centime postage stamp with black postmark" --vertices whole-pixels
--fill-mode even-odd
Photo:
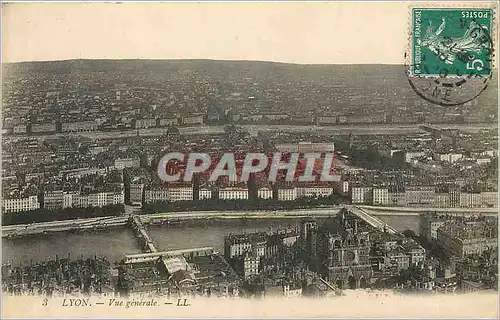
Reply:
[[[487,8],[412,8],[411,76],[490,75],[493,19]]]

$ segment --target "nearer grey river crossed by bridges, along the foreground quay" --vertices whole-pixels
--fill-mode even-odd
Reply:
[[[411,229],[418,233],[418,216],[377,216],[399,231]],[[321,220],[321,219],[318,219]],[[321,221],[319,221],[321,223]],[[213,246],[224,252],[224,236],[230,233],[276,230],[296,226],[295,219],[219,220],[209,223],[191,223],[183,226],[150,226],[148,233],[160,250]],[[2,261],[25,265],[31,261],[55,258],[56,255],[72,259],[95,254],[119,261],[125,254],[139,253],[133,232],[125,227],[83,233],[53,233],[23,238],[2,238]]]

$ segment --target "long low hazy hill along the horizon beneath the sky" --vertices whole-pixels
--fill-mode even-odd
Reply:
[[[196,86],[196,82],[203,79],[218,85],[226,93],[233,90],[234,83],[246,87],[258,84],[260,88],[271,88],[271,92],[290,96],[288,102],[295,107],[307,104],[311,97],[315,97],[317,105],[336,104],[363,109],[372,104],[379,109],[402,110],[417,106],[418,110],[432,112],[435,105],[423,101],[408,84],[406,68],[403,65],[302,65],[221,60],[67,60],[3,65],[7,79],[10,75],[17,79],[55,77],[80,86],[93,82],[98,87],[101,84],[105,87],[127,84],[170,90],[176,90],[176,83]],[[166,86],[167,83],[174,84],[174,87]],[[496,114],[497,88],[495,76],[490,88],[478,99],[484,112]],[[261,98],[269,101],[269,97]],[[472,108],[467,113],[475,112],[477,109]]]

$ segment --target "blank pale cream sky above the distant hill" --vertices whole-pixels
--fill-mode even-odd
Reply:
[[[409,19],[404,2],[10,3],[2,59],[402,64]]]

